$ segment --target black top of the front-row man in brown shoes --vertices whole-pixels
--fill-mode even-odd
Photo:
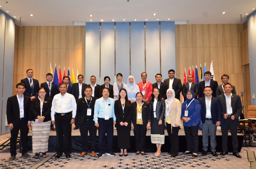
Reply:
[[[94,105],[97,99],[98,99],[97,97],[92,97],[91,102],[90,103],[88,102],[88,105],[90,105],[90,107],[88,107],[85,97],[78,99],[78,103],[76,107],[76,118],[78,119],[79,126],[82,125],[82,122],[84,121],[84,119],[94,118]],[[87,116],[87,108],[92,109],[91,116]]]

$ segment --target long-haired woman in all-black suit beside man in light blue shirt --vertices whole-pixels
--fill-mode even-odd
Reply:
[[[122,88],[119,91],[119,99],[115,101],[114,112],[116,115],[117,141],[118,148],[121,149],[119,156],[128,156],[127,149],[130,148],[130,117],[131,103],[128,100],[126,89]],[[124,150],[123,150],[124,149]]]

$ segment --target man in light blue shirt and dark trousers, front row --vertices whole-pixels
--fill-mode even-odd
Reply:
[[[116,116],[114,114],[114,99],[108,97],[110,90],[103,88],[102,97],[97,99],[94,106],[94,122],[95,126],[98,127],[99,136],[99,154],[98,158],[104,156],[107,152],[108,156],[116,156],[113,153],[112,141],[114,125],[116,124]],[[107,133],[107,146],[105,145],[105,135]]]

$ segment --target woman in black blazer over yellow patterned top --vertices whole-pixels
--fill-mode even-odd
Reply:
[[[143,101],[141,92],[136,94],[136,102],[132,103],[131,125],[135,137],[136,155],[145,155],[146,131],[150,128],[150,108],[149,103]]]

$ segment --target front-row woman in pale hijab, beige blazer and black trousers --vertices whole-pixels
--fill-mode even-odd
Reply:
[[[181,125],[181,104],[180,101],[175,98],[175,92],[173,89],[166,91],[167,99],[165,100],[165,126],[170,140],[170,151],[171,157],[178,155],[178,131]]]

